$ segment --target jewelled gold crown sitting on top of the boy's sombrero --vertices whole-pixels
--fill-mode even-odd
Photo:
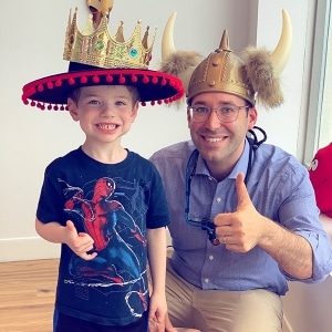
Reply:
[[[148,69],[156,30],[148,46],[149,27],[141,39],[141,24],[138,20],[132,37],[125,41],[123,22],[120,22],[115,35],[112,37],[107,27],[107,14],[103,12],[96,28],[93,27],[93,15],[90,14],[84,30],[80,32],[76,8],[73,18],[71,11],[69,14],[63,59],[104,69]]]

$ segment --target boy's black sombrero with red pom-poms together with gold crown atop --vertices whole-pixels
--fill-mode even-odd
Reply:
[[[141,21],[125,41],[123,22],[114,37],[108,32],[108,14],[104,12],[96,29],[92,15],[85,29],[77,29],[77,9],[71,13],[65,35],[63,59],[70,61],[69,71],[30,82],[23,86],[22,101],[41,110],[65,110],[71,91],[91,85],[132,85],[146,102],[170,103],[184,95],[181,81],[170,74],[148,70],[153,42],[147,46],[148,28],[141,40]]]

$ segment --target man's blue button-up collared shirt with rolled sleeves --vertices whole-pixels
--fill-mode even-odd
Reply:
[[[162,175],[169,205],[172,224],[168,227],[174,247],[174,269],[200,289],[268,289],[284,294],[288,290],[287,280],[297,279],[281,270],[264,250],[257,246],[246,253],[239,253],[229,251],[224,245],[212,246],[206,230],[186,224],[186,167],[194,149],[193,142],[181,142],[151,157]],[[301,281],[322,281],[332,271],[330,238],[319,219],[308,170],[279,147],[262,144],[252,152],[246,142],[232,172],[219,183],[198,156],[196,174],[191,180],[189,217],[212,220],[217,214],[236,210],[238,200],[235,180],[240,172],[247,174],[250,154],[252,163],[247,190],[256,209],[310,242],[313,274],[311,279]],[[193,167],[189,165],[189,173]]]

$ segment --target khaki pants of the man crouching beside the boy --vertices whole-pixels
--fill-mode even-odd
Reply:
[[[201,332],[280,332],[282,302],[267,290],[201,290],[180,278],[167,261],[166,295],[174,326]]]

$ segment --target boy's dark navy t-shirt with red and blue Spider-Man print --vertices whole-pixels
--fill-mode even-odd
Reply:
[[[103,164],[81,148],[45,169],[37,210],[40,221],[72,220],[94,239],[93,260],[62,245],[55,308],[103,325],[126,325],[148,307],[146,228],[169,224],[155,166],[128,152]]]

